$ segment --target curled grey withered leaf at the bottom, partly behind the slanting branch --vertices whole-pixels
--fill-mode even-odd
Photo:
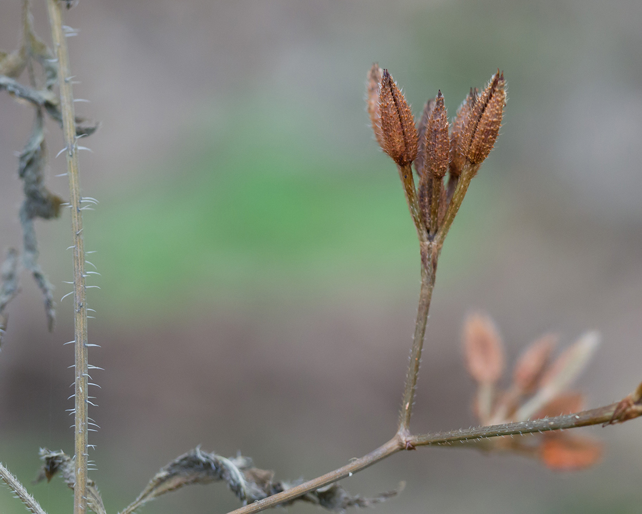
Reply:
[[[249,457],[221,457],[195,448],[164,466],[150,481],[143,492],[121,514],[131,514],[148,501],[164,493],[192,484],[209,484],[223,481],[244,504],[262,500],[273,494],[288,490],[301,483],[286,483],[273,480],[274,473],[252,467]],[[367,507],[396,495],[399,491],[382,493],[367,499],[352,496],[338,483],[306,493],[293,501],[306,501],[327,510],[342,512],[348,507]],[[290,502],[291,503],[291,502]]]

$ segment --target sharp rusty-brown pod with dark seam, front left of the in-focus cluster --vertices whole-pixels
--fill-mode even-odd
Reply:
[[[407,166],[417,157],[417,129],[412,111],[387,69],[379,86],[379,116],[383,151],[399,166]]]

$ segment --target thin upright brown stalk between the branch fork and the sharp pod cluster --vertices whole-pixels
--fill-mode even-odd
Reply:
[[[433,245],[420,244],[421,246],[421,290],[419,292],[419,306],[417,307],[417,321],[415,333],[410,350],[410,362],[406,373],[406,385],[404,386],[403,401],[401,403],[401,414],[399,415],[399,434],[407,434],[412,416],[412,406],[415,398],[415,387],[421,366],[421,352],[424,346],[424,334],[428,324],[428,311],[430,300],[435,287],[435,270],[437,269],[437,256],[431,253]]]

